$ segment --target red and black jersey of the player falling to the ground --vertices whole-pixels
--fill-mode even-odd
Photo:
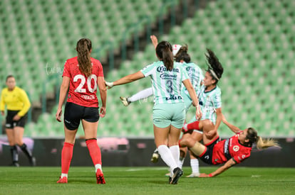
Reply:
[[[252,147],[242,145],[239,143],[238,138],[239,133],[214,145],[212,152],[213,165],[222,164],[231,158],[238,164],[250,156]]]

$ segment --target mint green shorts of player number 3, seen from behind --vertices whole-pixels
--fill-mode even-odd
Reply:
[[[158,128],[174,126],[182,128],[185,123],[185,104],[157,104],[152,109],[152,120]]]

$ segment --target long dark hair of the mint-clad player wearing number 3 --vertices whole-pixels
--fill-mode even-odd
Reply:
[[[173,55],[172,55],[172,46],[167,41],[161,41],[157,44],[156,48],[157,57],[164,62],[165,67],[168,70],[173,69]]]

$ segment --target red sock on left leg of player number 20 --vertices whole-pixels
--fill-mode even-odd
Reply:
[[[73,144],[64,143],[61,151],[61,173],[68,174],[73,157]]]

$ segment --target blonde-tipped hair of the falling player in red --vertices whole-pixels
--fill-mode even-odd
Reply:
[[[258,136],[257,131],[254,128],[248,128],[246,138],[249,140],[249,145],[252,145],[252,143],[257,143],[258,149],[264,149],[271,146],[279,147],[279,144],[276,143],[275,140],[264,140]]]

